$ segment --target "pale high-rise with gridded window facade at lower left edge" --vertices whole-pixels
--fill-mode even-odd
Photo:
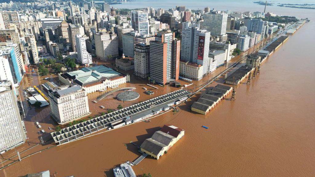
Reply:
[[[0,81],[0,153],[25,142],[24,123],[20,117],[15,88],[10,81]]]

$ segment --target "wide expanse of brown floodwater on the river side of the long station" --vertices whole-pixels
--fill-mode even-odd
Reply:
[[[140,145],[166,123],[185,129],[184,138],[159,160],[146,158],[134,166],[137,175],[142,168],[154,177],[315,176],[314,20],[289,36],[250,85],[237,87],[236,101],[223,100],[206,116],[187,111],[197,94],[175,115],[51,148],[1,170],[0,176],[49,170],[60,177],[112,177],[112,168],[140,155],[129,142]]]

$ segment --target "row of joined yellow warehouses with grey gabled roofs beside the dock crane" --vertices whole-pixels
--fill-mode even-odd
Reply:
[[[206,115],[216,104],[232,91],[232,87],[218,84],[207,94],[203,95],[198,101],[192,104],[192,111]]]

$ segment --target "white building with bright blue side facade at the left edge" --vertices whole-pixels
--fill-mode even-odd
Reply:
[[[10,81],[17,87],[25,74],[18,44],[0,43],[0,80]]]

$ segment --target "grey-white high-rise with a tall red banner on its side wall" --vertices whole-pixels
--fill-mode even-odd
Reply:
[[[191,24],[183,29],[181,40],[180,59],[202,65],[202,75],[207,74],[210,32],[200,30],[198,24]]]

